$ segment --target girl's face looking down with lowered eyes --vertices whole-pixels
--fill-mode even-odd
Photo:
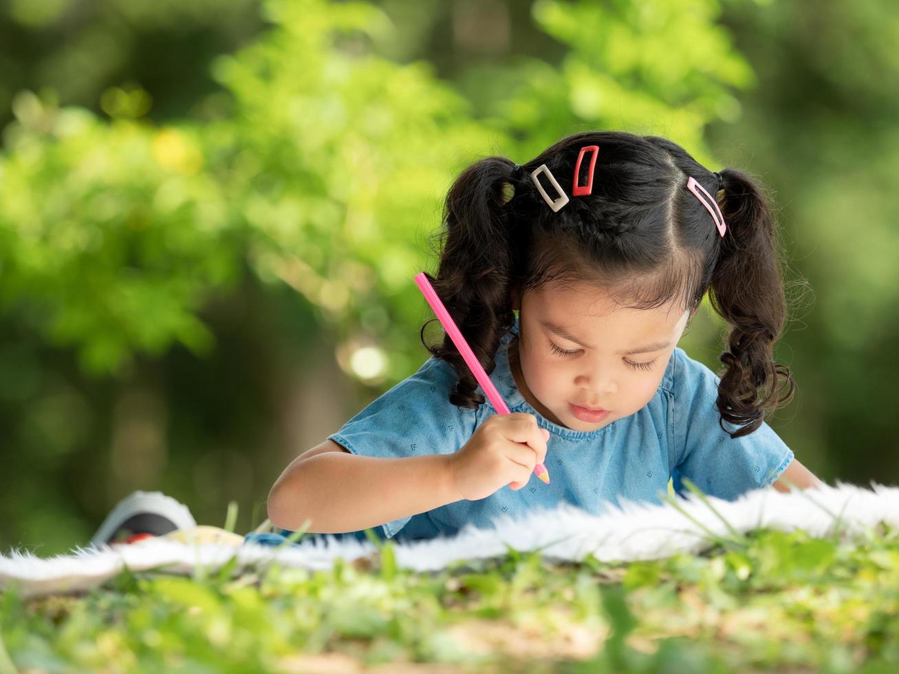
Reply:
[[[594,287],[525,293],[509,353],[512,375],[549,421],[599,430],[652,400],[689,318],[673,305],[621,308]]]

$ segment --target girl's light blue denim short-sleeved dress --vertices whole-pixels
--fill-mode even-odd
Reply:
[[[719,426],[716,406],[719,377],[676,347],[662,382],[644,408],[592,431],[571,430],[548,421],[521,395],[509,365],[508,346],[518,333],[503,336],[490,375],[510,412],[533,414],[550,433],[544,462],[551,482],[531,475],[519,491],[505,486],[479,501],[456,501],[371,529],[378,538],[415,540],[452,536],[467,524],[489,528],[497,516],[521,517],[535,509],[572,503],[598,514],[609,504],[662,502],[672,478],[675,492],[686,492],[688,477],[712,496],[733,501],[743,492],[774,483],[794,458],[767,423],[732,439]],[[486,399],[476,410],[450,404],[455,372],[439,359],[427,359],[411,377],[393,386],[358,412],[329,439],[366,457],[450,454],[465,445],[476,428],[496,413]],[[480,386],[477,392],[484,394]],[[735,430],[725,421],[725,427]],[[393,487],[383,486],[385,498]],[[289,533],[289,532],[288,532]],[[309,534],[303,537],[323,537]],[[328,534],[365,540],[364,530]],[[282,543],[279,534],[249,535],[258,543]]]

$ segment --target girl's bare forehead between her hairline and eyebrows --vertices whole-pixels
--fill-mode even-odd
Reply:
[[[583,331],[616,330],[634,337],[666,338],[676,336],[682,319],[688,314],[676,301],[652,309],[632,309],[619,305],[608,291],[593,286],[543,288],[522,297],[528,312],[539,320],[582,327]],[[682,321],[686,324],[686,320]]]

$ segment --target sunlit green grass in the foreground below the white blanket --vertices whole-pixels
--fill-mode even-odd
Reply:
[[[8,591],[0,674],[899,666],[899,535],[886,525],[854,544],[734,531],[704,554],[636,563],[551,563],[510,548],[433,573],[398,568],[394,544],[375,542],[376,553],[325,572],[234,577],[230,565],[125,572],[81,597]]]

